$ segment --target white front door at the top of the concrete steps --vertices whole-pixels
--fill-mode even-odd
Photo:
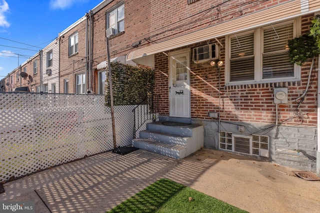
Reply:
[[[169,54],[170,117],[190,118],[190,51]]]

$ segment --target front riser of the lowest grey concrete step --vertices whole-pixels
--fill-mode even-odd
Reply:
[[[154,152],[154,153],[167,156],[170,158],[174,158],[174,159],[180,159],[180,156],[182,156],[182,158],[185,157],[185,155],[183,155],[183,151],[168,149],[164,147],[158,147],[156,145],[145,144],[145,143],[134,141],[134,140],[132,141],[132,145],[136,148],[146,150],[149,152]]]

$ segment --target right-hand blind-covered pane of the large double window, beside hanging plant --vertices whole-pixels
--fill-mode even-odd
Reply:
[[[288,39],[293,38],[293,23],[263,28],[262,79],[293,77]]]

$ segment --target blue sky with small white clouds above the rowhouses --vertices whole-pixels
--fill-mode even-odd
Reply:
[[[0,0],[0,79],[103,0]]]

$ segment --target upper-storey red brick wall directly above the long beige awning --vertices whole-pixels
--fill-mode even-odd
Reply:
[[[152,0],[150,39],[166,40],[289,0]]]

